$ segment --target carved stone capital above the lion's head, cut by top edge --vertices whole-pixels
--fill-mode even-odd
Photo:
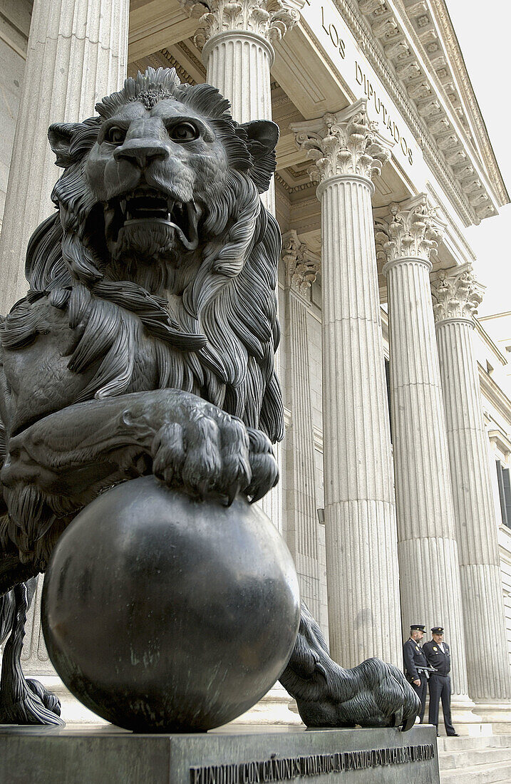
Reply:
[[[305,0],[179,0],[179,3],[199,20],[194,43],[202,49],[214,35],[236,31],[259,35],[274,44],[295,27]]]

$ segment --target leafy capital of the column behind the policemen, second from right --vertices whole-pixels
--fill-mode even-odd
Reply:
[[[390,205],[390,215],[375,225],[377,245],[386,252],[387,262],[435,256],[446,226],[426,194]]]

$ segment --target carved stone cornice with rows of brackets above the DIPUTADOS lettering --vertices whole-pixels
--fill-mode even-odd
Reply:
[[[495,214],[509,196],[473,91],[470,87],[473,100],[467,107],[468,90],[458,90],[461,70],[466,85],[469,78],[459,48],[453,63],[454,31],[449,49],[444,42],[439,18],[444,28],[450,22],[443,0],[334,2],[466,225]]]

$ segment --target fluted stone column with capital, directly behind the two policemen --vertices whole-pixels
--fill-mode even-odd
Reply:
[[[417,619],[444,626],[454,691],[465,699],[458,545],[429,288],[429,257],[436,252],[441,224],[425,194],[390,205],[390,213],[378,223],[376,238],[388,259],[383,269],[403,631]]]

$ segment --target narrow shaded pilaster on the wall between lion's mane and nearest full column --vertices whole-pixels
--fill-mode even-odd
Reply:
[[[314,618],[319,620],[320,580],[317,542],[316,466],[312,404],[310,401],[309,338],[304,296],[315,281],[319,261],[311,257],[295,231],[282,238],[286,273],[288,322],[288,368],[291,427],[288,450],[292,455],[293,481],[288,487],[287,543],[295,560],[300,594]]]

